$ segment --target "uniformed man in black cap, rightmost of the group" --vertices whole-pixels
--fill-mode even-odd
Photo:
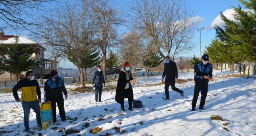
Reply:
[[[194,81],[195,81],[195,89],[194,96],[192,100],[192,111],[195,111],[197,98],[199,96],[199,92],[201,91],[201,101],[199,105],[199,109],[204,110],[205,99],[208,92],[208,82],[212,80],[213,77],[213,67],[211,63],[208,63],[209,56],[204,54],[202,56],[202,61],[198,62],[194,66]]]

